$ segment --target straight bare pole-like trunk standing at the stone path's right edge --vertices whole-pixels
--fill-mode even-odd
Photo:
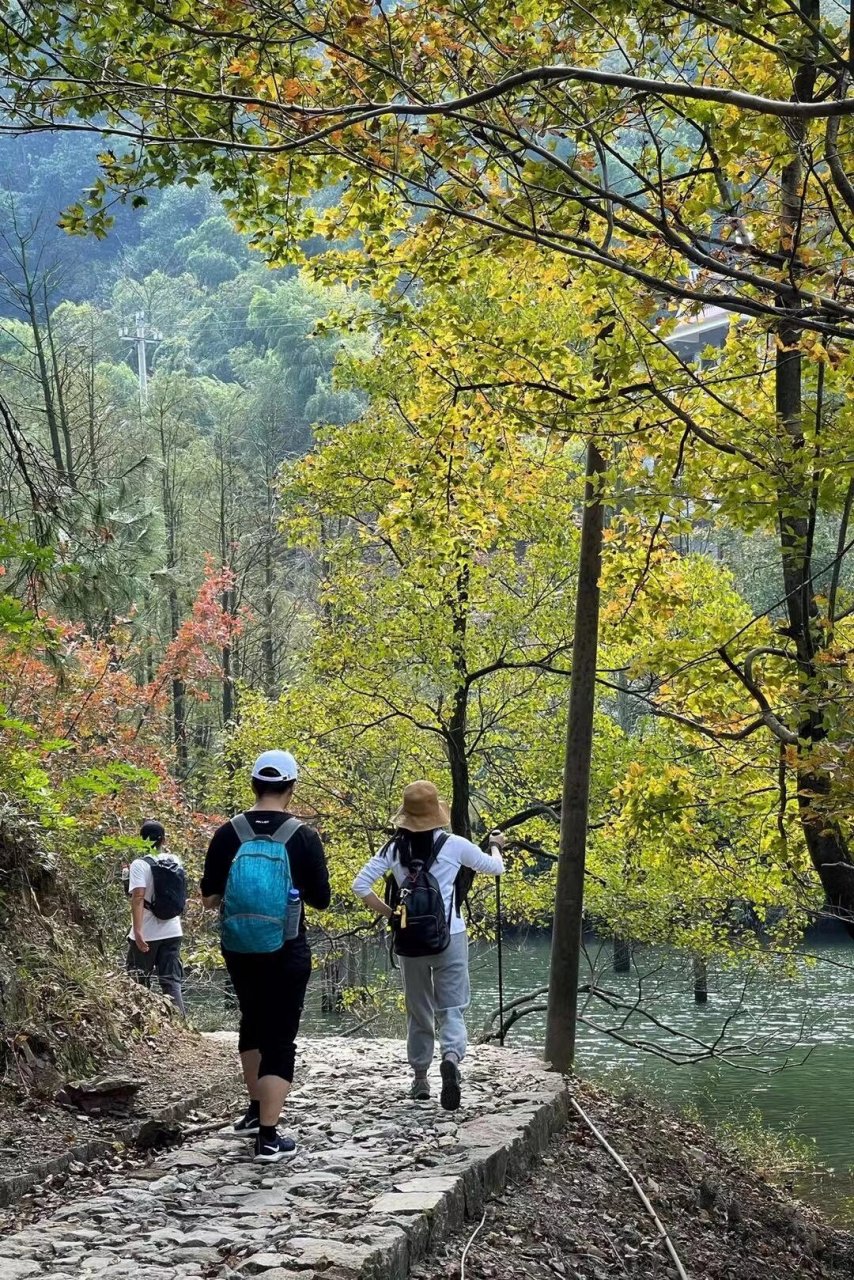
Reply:
[[[579,586],[572,637],[572,678],[566,728],[566,760],[561,804],[561,846],[554,891],[554,924],[545,1019],[545,1060],[556,1071],[568,1071],[575,1057],[579,1002],[579,954],[584,906],[590,755],[599,643],[599,575],[604,507],[600,476],[606,461],[588,444]]]

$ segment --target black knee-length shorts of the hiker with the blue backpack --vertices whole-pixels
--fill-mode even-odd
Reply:
[[[259,1076],[293,1080],[300,1018],[311,977],[311,951],[305,934],[266,955],[223,951],[241,1006],[241,1053],[261,1055]]]

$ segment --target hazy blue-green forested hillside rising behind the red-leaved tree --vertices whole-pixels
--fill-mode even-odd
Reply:
[[[155,192],[100,243],[67,236],[56,224],[91,180],[92,143],[5,146],[15,163],[4,170],[0,237],[4,398],[44,449],[33,466],[61,486],[49,485],[56,509],[55,524],[42,513],[45,535],[73,572],[51,599],[99,637],[136,611],[150,646],[140,660],[156,664],[213,557],[234,573],[228,609],[251,607],[259,620],[234,646],[232,677],[273,690],[292,608],[274,477],[306,451],[312,424],[359,411],[355,393],[332,387],[342,339],[311,337],[343,300],[270,271],[202,187]],[[18,485],[4,499],[18,520]],[[232,698],[229,689],[227,719]],[[188,714],[179,712],[182,755],[207,732]]]

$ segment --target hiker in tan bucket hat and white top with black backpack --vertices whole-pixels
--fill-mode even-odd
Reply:
[[[431,782],[411,782],[392,819],[394,835],[362,867],[353,892],[392,927],[403,978],[406,1048],[414,1075],[410,1097],[430,1097],[428,1070],[438,1029],[439,1101],[446,1111],[456,1111],[461,1098],[460,1062],[467,1046],[465,1010],[471,998],[462,869],[501,876],[504,837],[494,836],[493,845],[499,850],[495,855],[484,854],[470,840],[444,829],[449,818]],[[385,901],[374,892],[380,876],[387,877]]]

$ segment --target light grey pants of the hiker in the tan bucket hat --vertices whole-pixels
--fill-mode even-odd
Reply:
[[[471,1000],[469,937],[455,933],[437,956],[401,956],[406,998],[406,1051],[416,1075],[426,1075],[437,1030],[442,1056],[465,1057],[469,1034],[463,1010]]]

